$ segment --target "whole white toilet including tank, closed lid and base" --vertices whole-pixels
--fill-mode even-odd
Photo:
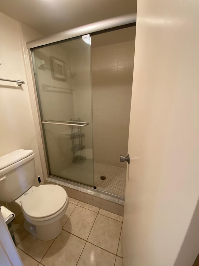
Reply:
[[[68,206],[66,191],[58,185],[33,186],[35,153],[16,150],[0,157],[0,201],[15,202],[24,215],[24,228],[41,240],[62,232],[61,218]]]

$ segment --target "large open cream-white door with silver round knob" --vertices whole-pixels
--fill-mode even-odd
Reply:
[[[128,153],[123,266],[191,266],[199,252],[196,0],[138,0]]]

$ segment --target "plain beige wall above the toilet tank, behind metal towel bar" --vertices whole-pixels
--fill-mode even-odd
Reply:
[[[0,13],[0,76],[5,79],[24,80],[21,87],[16,83],[0,81],[0,156],[17,149],[35,152],[35,186],[38,186],[37,175],[43,183],[43,171],[39,155],[34,117],[36,104],[30,71],[30,64],[25,67],[27,53],[23,50],[22,30],[24,25]],[[35,32],[36,33],[36,32]],[[34,32],[30,38],[35,38]],[[31,110],[31,104],[33,110]],[[38,121],[38,118],[37,118]],[[39,123],[39,122],[38,122]],[[2,203],[3,204],[3,203]],[[13,204],[8,206],[16,214],[19,209]]]

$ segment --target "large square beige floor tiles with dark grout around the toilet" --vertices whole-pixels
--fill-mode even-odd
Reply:
[[[62,233],[50,241],[27,233],[23,221],[20,214],[13,222],[19,224],[15,238],[25,266],[122,266],[122,216],[69,198]]]

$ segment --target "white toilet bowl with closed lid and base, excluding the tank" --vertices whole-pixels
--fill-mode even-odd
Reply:
[[[21,207],[24,227],[30,234],[46,241],[61,234],[60,219],[68,207],[68,196],[61,186],[32,186],[14,202]]]

